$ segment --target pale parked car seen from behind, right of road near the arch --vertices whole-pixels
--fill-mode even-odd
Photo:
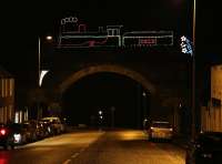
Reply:
[[[162,139],[172,140],[173,129],[169,122],[153,121],[148,130],[149,140]]]

